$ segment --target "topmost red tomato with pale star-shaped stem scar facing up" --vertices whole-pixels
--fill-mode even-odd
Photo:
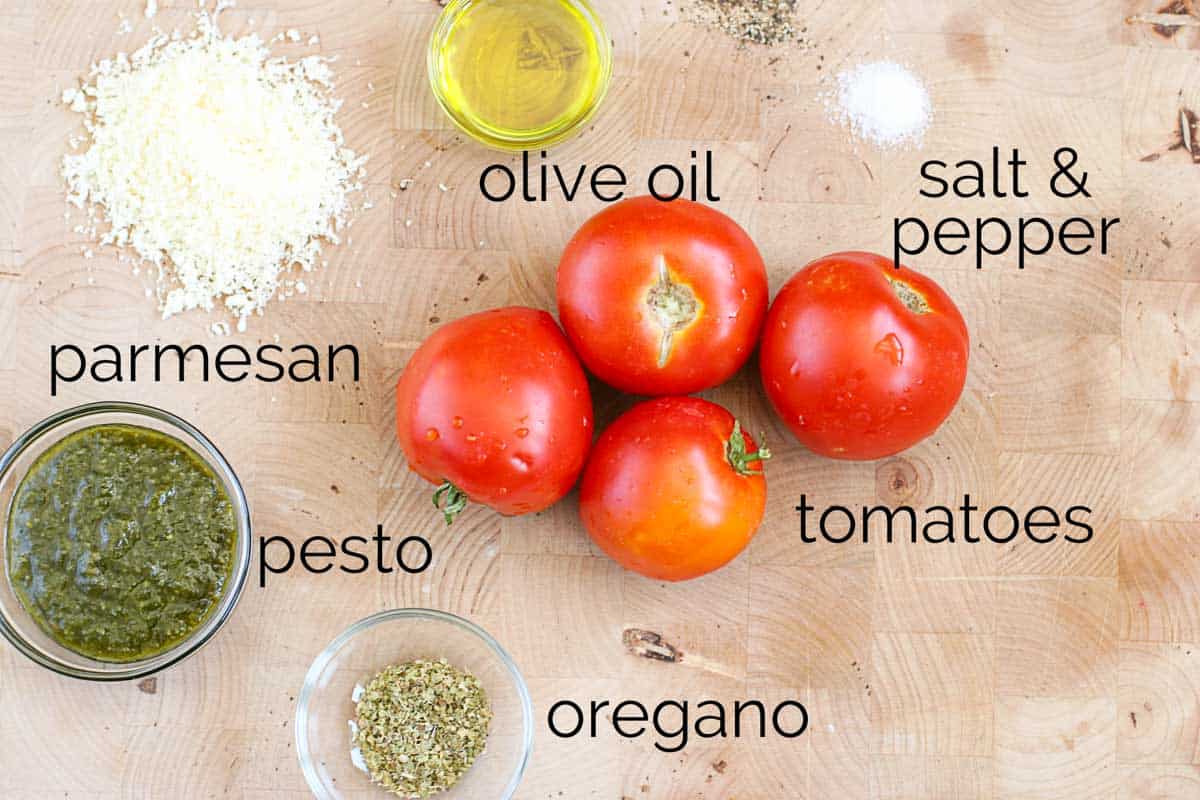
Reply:
[[[558,264],[558,315],[598,378],[635,395],[725,381],[754,350],[767,270],[745,231],[690,200],[635,197],[575,234]]]

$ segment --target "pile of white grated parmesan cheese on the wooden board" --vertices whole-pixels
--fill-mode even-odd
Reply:
[[[62,175],[89,212],[79,233],[158,267],[163,318],[223,302],[245,330],[277,293],[305,291],[288,275],[340,241],[366,158],[334,119],[330,60],[289,62],[257,35],[224,36],[222,7],[200,10],[190,36],[158,31],[92,65],[64,92],[88,136]]]

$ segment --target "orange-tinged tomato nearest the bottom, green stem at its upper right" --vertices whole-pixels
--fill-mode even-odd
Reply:
[[[698,397],[660,397],[601,434],[583,470],[580,515],[622,566],[686,581],[731,561],[767,505],[762,459],[733,415]]]

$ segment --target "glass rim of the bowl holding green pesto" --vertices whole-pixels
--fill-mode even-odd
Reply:
[[[101,682],[116,682],[125,680],[138,680],[140,678],[146,678],[168,669],[179,662],[184,661],[202,646],[204,646],[217,631],[220,631],[224,624],[233,615],[234,608],[238,606],[238,601],[241,599],[242,589],[246,585],[246,578],[250,575],[250,563],[253,558],[253,534],[251,529],[250,521],[250,504],[246,500],[245,489],[241,486],[241,480],[234,471],[233,467],[226,459],[212,441],[200,432],[199,428],[187,422],[180,416],[172,414],[161,408],[154,405],[145,405],[143,403],[130,403],[125,401],[102,401],[97,403],[84,403],[82,405],[73,405],[71,408],[62,409],[44,417],[40,422],[31,426],[28,431],[17,437],[4,455],[0,456],[0,482],[4,481],[13,469],[13,464],[17,458],[22,456],[29,447],[34,446],[43,437],[53,433],[59,427],[67,425],[68,422],[74,422],[76,420],[84,420],[89,416],[98,416],[101,414],[127,414],[130,416],[142,416],[149,417],[151,420],[157,420],[158,422],[166,423],[168,427],[178,428],[182,433],[187,434],[187,438],[174,437],[179,439],[180,444],[191,447],[192,450],[203,450],[212,462],[217,465],[218,477],[230,492],[230,500],[234,505],[234,515],[238,522],[238,536],[241,540],[238,542],[235,558],[238,561],[234,565],[234,572],[230,576],[232,581],[229,588],[226,590],[224,597],[221,600],[221,606],[217,607],[216,613],[209,618],[192,637],[188,637],[176,644],[175,646],[160,652],[158,655],[150,656],[149,658],[143,658],[140,661],[133,661],[128,664],[126,669],[113,669],[113,670],[94,670],[88,668],[74,667],[72,664],[64,663],[62,661],[43,654],[41,650],[26,642],[8,621],[6,614],[0,613],[0,634],[4,636],[17,650],[19,650],[28,658],[34,661],[41,667],[49,669],[59,675],[66,678],[77,678],[79,680],[92,680]],[[128,425],[136,425],[130,422]],[[83,428],[80,428],[83,429]],[[19,476],[24,479],[24,476]],[[2,530],[0,530],[0,536],[7,536],[7,518],[8,509],[0,510],[0,522],[2,522]],[[4,570],[4,581],[8,581],[7,567]],[[19,600],[19,599],[18,599]],[[26,614],[29,612],[25,612]],[[77,654],[80,658],[85,658],[90,662],[103,663],[106,666],[122,666],[119,662],[102,662],[89,656]]]

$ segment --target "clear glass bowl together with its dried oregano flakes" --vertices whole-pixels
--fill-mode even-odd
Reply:
[[[436,680],[445,673],[456,676],[452,685],[457,693],[452,696],[430,680],[431,675]],[[368,709],[367,704],[379,697],[373,694],[377,687],[388,697],[380,681],[397,674],[401,679],[392,682],[392,699],[401,703],[410,699],[415,709],[386,704],[380,709],[379,703]],[[432,685],[425,688],[426,684]],[[456,715],[478,709],[479,690],[487,709],[482,716],[490,717],[490,722],[482,723],[482,752],[469,747],[439,750],[438,723],[445,729],[451,720],[431,717],[439,716],[439,709],[446,706]],[[424,708],[422,699],[427,702]],[[403,711],[412,710],[420,722],[404,726]],[[413,770],[415,776],[406,777],[415,784],[433,786],[431,778],[449,772],[451,780],[443,783],[450,786],[442,790],[391,792],[378,782],[384,776],[376,775],[377,781],[372,781],[367,766],[372,753],[364,756],[370,747],[355,736],[356,730],[370,724],[368,714],[373,714],[383,740],[412,742],[409,734],[413,734],[425,744],[424,738],[430,738],[428,747],[422,747],[422,756],[414,760],[438,759],[436,766],[424,772]],[[479,716],[455,718],[451,724],[461,726],[461,735],[462,729],[470,729],[468,735],[474,736]],[[392,727],[379,724],[379,720],[397,722]],[[355,622],[317,656],[300,690],[295,738],[308,788],[320,800],[397,796],[509,800],[516,794],[533,751],[533,703],[516,663],[481,627],[445,612],[401,608]],[[466,764],[460,750],[469,751]],[[395,758],[396,753],[391,756]]]

